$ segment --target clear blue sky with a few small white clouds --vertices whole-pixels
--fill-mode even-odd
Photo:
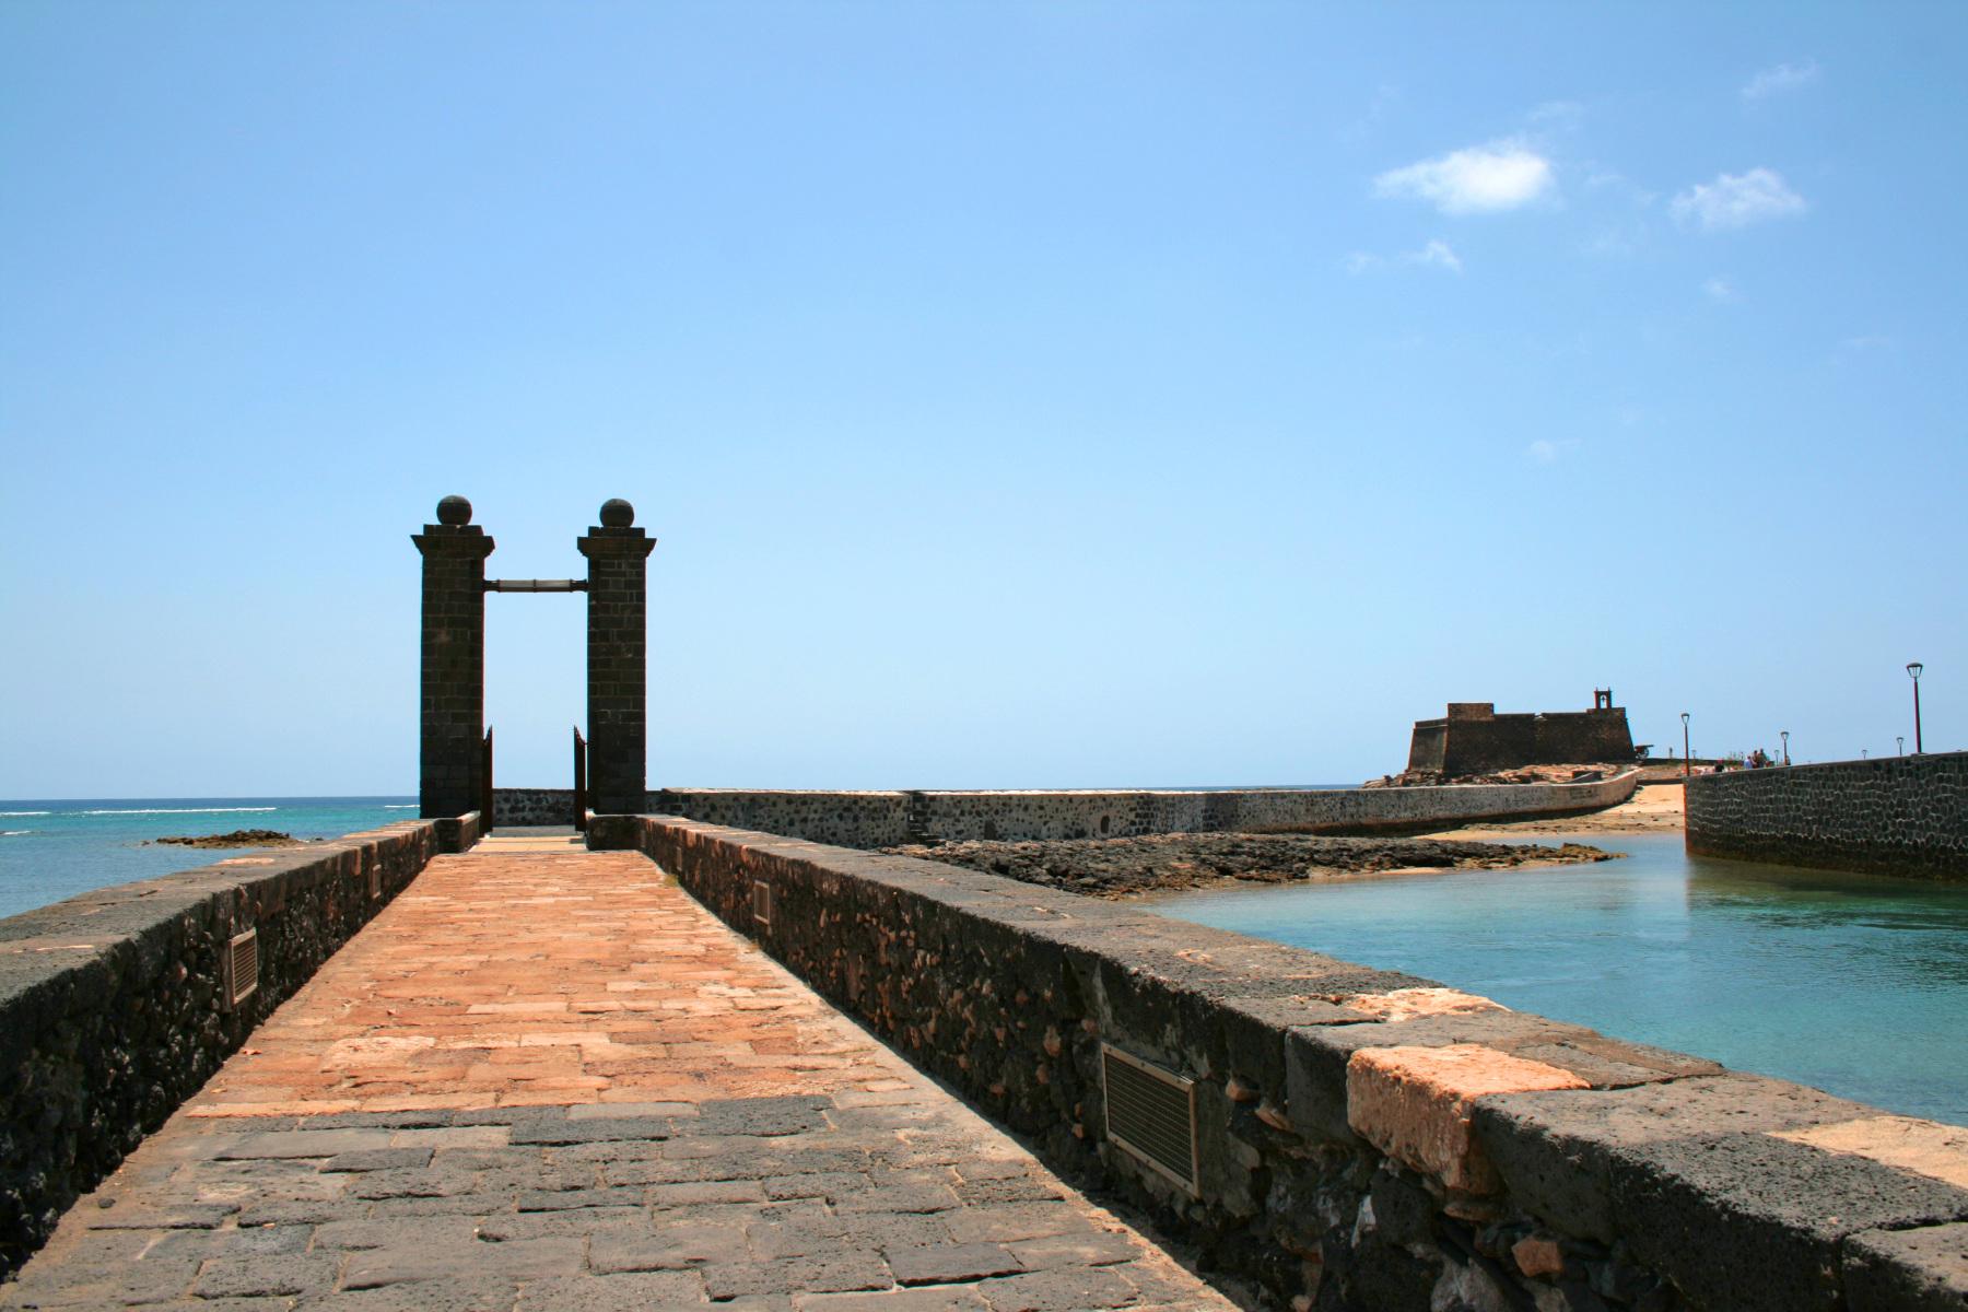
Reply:
[[[1960,6],[0,8],[0,795],[415,787],[417,557],[653,783],[1968,745]],[[494,596],[508,783],[581,600]]]

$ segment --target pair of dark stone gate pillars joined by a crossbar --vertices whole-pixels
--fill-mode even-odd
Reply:
[[[600,523],[575,545],[588,559],[581,578],[486,578],[492,539],[472,523],[472,504],[447,496],[437,523],[413,533],[423,555],[423,686],[417,814],[476,810],[486,783],[486,592],[588,594],[588,808],[634,814],[647,795],[647,572],[655,539],[636,507],[602,506]]]

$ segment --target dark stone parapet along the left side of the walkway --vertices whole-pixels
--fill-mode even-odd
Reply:
[[[122,883],[0,921],[0,1277],[476,812]],[[222,954],[260,932],[236,1009]]]

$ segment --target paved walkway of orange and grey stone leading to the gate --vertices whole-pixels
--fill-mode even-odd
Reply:
[[[435,860],[0,1308],[1230,1308],[646,858]]]

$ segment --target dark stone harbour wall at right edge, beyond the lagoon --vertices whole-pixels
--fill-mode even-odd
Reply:
[[[1968,751],[1694,775],[1689,852],[1968,879]]]

